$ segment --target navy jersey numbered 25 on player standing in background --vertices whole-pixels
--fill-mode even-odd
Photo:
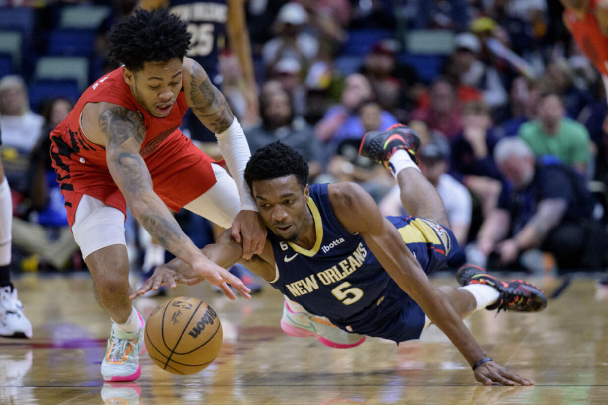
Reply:
[[[226,43],[226,0],[171,0],[169,11],[188,24],[192,45],[187,56],[201,64],[215,85],[221,82],[218,71],[219,50]]]

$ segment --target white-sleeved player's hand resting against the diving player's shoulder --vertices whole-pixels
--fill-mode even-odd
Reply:
[[[232,221],[230,234],[237,243],[242,242],[244,259],[250,259],[264,251],[266,226],[256,211],[241,210]]]

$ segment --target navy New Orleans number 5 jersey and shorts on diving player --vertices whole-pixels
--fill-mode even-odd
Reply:
[[[308,208],[317,235],[313,249],[308,251],[268,233],[277,263],[277,278],[271,285],[306,311],[326,316],[344,330],[395,341],[417,338],[424,323],[420,307],[396,285],[363,238],[349,234],[339,223],[331,209],[327,184],[311,185]],[[387,218],[425,272],[446,266],[455,248],[449,230],[423,218]],[[402,314],[404,308],[406,315]],[[415,325],[400,324],[395,335],[392,324],[396,319]]]

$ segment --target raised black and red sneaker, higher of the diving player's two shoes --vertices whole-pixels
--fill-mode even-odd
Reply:
[[[391,170],[389,159],[399,149],[407,151],[412,161],[418,164],[415,153],[419,147],[420,139],[409,126],[395,124],[389,126],[386,131],[371,131],[365,134],[359,146],[359,154]]]

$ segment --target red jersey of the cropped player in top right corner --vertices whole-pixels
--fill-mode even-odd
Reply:
[[[593,14],[598,0],[590,0],[589,9],[579,20],[575,12],[566,9],[564,19],[582,52],[598,71],[608,76],[608,36],[601,33]]]

